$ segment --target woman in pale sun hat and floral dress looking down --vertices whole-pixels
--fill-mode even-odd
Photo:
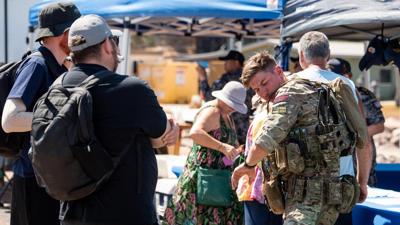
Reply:
[[[236,111],[242,114],[247,112],[244,104],[246,90],[240,82],[228,82],[222,90],[214,91],[212,95],[216,99],[206,102],[194,118],[190,129],[193,148],[179,177],[174,196],[168,203],[163,225],[243,223],[244,208],[234,190],[231,190],[229,207],[196,203],[199,166],[206,169],[230,169],[230,165],[222,160],[224,157],[234,159],[238,154],[234,121],[230,115]]]

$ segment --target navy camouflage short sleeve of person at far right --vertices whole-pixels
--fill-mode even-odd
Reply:
[[[376,99],[374,93],[363,87],[357,87],[357,90],[360,94],[362,106],[364,106],[364,114],[367,126],[384,123],[385,118],[382,114],[382,106]]]

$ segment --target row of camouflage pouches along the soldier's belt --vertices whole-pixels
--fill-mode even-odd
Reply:
[[[354,176],[338,178],[288,179],[284,181],[284,191],[288,198],[307,201],[311,204],[326,203],[336,205],[339,213],[349,213],[358,201],[360,189]]]

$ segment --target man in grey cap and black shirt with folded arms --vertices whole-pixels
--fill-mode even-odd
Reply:
[[[120,36],[122,32],[110,30],[100,16],[78,18],[68,36],[75,67],[62,85],[73,88],[96,72],[115,72]],[[153,147],[174,145],[178,124],[140,78],[115,74],[89,91],[94,133],[108,155],[116,157],[132,135],[136,144],[104,187],[81,199],[61,201],[61,224],[156,224],[153,198],[158,172]]]

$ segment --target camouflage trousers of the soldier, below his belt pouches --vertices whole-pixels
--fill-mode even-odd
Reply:
[[[339,212],[334,205],[310,204],[286,198],[283,213],[284,225],[332,225]]]

